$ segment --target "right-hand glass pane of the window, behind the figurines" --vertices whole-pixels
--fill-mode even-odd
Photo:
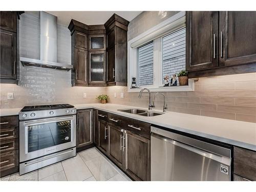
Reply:
[[[181,28],[162,38],[162,78],[170,78],[185,69],[186,28]]]

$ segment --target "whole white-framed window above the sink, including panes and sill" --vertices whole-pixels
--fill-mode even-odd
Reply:
[[[188,86],[164,86],[164,77],[170,79],[185,69],[186,27],[185,12],[167,18],[128,42],[128,91],[148,88],[152,91],[193,91],[194,80]],[[136,78],[136,88],[132,81]]]

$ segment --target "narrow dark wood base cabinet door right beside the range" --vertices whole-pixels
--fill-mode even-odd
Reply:
[[[76,126],[76,147],[77,151],[83,150],[83,147],[93,143],[93,110],[77,111]]]

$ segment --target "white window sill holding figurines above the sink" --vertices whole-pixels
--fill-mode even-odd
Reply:
[[[176,91],[194,91],[195,81],[188,79],[188,86],[169,86],[169,87],[139,87],[139,88],[128,88],[128,92],[140,92],[141,89],[147,88],[152,92],[176,92]]]

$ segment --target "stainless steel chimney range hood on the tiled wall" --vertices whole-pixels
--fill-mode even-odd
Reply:
[[[57,62],[57,17],[40,11],[40,59],[20,57],[25,67],[69,71],[72,65]]]

